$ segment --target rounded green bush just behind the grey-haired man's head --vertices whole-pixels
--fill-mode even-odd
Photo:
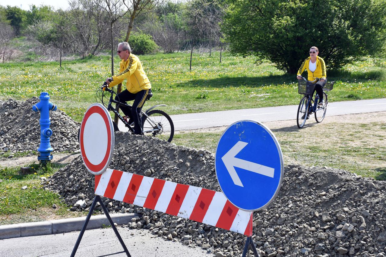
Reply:
[[[151,54],[159,48],[150,35],[142,32],[132,33],[129,44],[133,54]]]

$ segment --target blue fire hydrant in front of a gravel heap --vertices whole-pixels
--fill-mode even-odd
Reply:
[[[49,138],[52,135],[52,129],[49,128],[51,124],[49,111],[54,111],[58,107],[49,101],[50,97],[47,92],[41,92],[39,98],[40,102],[32,106],[34,112],[40,111],[40,146],[37,149],[40,155],[37,159],[42,164],[47,164],[48,161],[52,160],[51,152],[54,150],[49,142]]]

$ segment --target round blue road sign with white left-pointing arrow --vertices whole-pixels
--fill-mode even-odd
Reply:
[[[269,128],[253,120],[231,124],[217,144],[218,184],[236,207],[257,211],[268,206],[283,180],[283,155]]]

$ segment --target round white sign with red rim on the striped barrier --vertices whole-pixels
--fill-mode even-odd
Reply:
[[[114,151],[113,121],[100,103],[88,107],[80,125],[80,153],[91,174],[102,174],[108,167]]]

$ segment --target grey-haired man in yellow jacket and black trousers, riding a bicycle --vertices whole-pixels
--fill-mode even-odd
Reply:
[[[143,135],[140,113],[147,96],[151,94],[151,84],[142,68],[141,61],[131,53],[129,43],[119,43],[117,53],[121,59],[119,74],[107,78],[106,83],[108,87],[113,87],[126,79],[126,89],[115,96],[115,100],[121,102],[134,100],[131,110],[124,106],[120,108],[127,117],[134,120],[134,133]]]

